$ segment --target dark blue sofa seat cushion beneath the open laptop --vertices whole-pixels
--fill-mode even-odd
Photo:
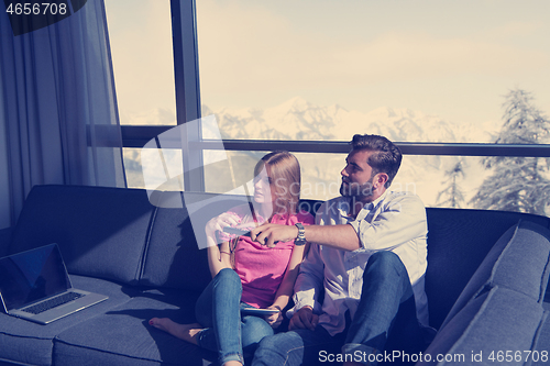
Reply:
[[[47,325],[0,313],[0,359],[51,365],[53,339],[58,333],[123,304],[132,295],[136,295],[135,290],[97,278],[70,276],[70,280],[76,288],[103,293],[109,299]]]

